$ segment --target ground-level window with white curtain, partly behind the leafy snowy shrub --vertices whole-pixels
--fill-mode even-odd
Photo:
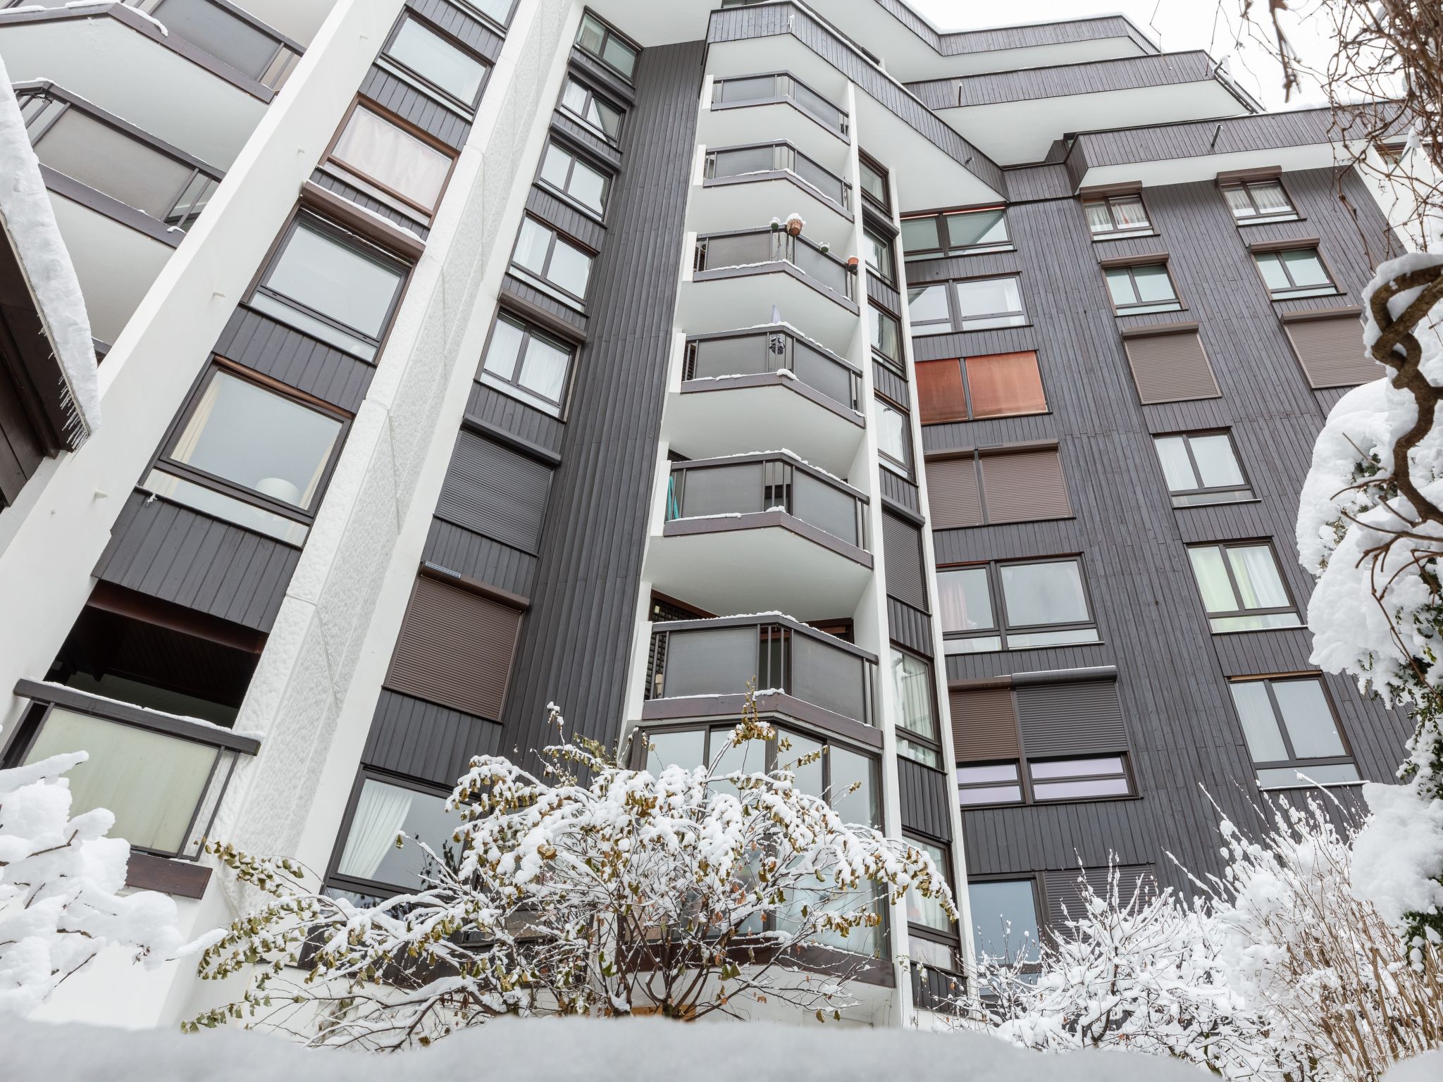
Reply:
[[[437,860],[453,861],[460,856],[460,847],[452,841],[460,812],[446,811],[447,796],[365,776],[332,881],[367,897],[420,890],[426,876],[434,874],[434,863],[417,841],[426,843]],[[398,834],[405,834],[404,845],[395,844]]]

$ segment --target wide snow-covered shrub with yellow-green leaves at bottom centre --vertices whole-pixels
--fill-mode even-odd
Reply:
[[[778,739],[749,698],[732,740]],[[955,910],[925,853],[798,789],[820,755],[654,776],[574,740],[544,750],[541,778],[479,756],[450,798],[447,851],[397,840],[424,848],[421,887],[368,909],[307,889],[291,861],[212,847],[273,900],[203,955],[206,978],[257,969],[192,1027],[242,1019],[397,1049],[498,1014],[697,1019],[775,1000],[835,1017],[866,961],[846,946],[880,925],[883,897],[911,887]]]

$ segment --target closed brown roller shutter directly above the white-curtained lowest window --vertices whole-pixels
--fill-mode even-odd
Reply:
[[[417,579],[385,685],[476,717],[501,718],[521,612]]]

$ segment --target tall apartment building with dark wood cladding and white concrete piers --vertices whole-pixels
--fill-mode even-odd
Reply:
[[[0,488],[0,739],[87,749],[190,928],[202,837],[381,897],[548,701],[694,765],[755,681],[948,870],[854,945],[906,1024],[1079,874],[1215,870],[1214,805],[1391,778],[1290,555],[1390,239],[1325,111],[902,0],[26,3],[0,58],[104,407]],[[49,1010],[215,994],[118,965]]]

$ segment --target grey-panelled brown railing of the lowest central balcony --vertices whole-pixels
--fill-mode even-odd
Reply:
[[[747,681],[874,726],[877,659],[834,635],[781,616],[654,623],[646,698],[742,695]],[[762,698],[766,708],[766,698]]]

